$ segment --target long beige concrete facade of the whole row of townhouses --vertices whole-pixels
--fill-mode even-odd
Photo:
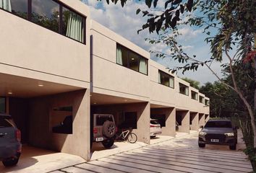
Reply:
[[[177,120],[184,133],[190,121],[192,130],[205,124],[209,106],[192,99],[192,91],[208,99],[204,94],[150,60],[148,51],[91,20],[81,1],[59,2],[86,17],[85,43],[0,9],[0,97],[7,98],[6,112],[22,130],[23,143],[89,160],[93,113],[111,113],[119,125],[119,115],[135,112],[133,132],[144,143],[150,143],[150,115],[165,117],[165,136],[176,135]],[[148,73],[117,64],[116,45],[145,58]],[[174,87],[160,84],[159,71],[174,78]],[[188,87],[187,94],[180,93],[180,84]],[[56,112],[59,107],[72,111]],[[72,133],[53,133],[70,114]]]

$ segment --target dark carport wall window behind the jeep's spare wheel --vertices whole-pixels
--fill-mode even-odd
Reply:
[[[137,112],[124,112],[122,118],[119,117],[119,120],[123,120],[119,128],[137,128]]]

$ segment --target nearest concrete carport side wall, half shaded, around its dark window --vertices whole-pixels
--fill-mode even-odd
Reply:
[[[72,106],[72,134],[52,133],[51,120],[57,115],[54,108],[67,106]],[[90,90],[82,89],[30,99],[29,129],[29,143],[32,146],[90,160]]]

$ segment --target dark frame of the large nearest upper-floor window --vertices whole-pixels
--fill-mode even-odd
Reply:
[[[3,10],[4,12],[8,12],[8,13],[10,13],[10,14],[13,14],[14,16],[17,16],[17,17],[20,17],[21,19],[25,19],[25,20],[28,20],[29,22],[32,22],[33,24],[35,24],[35,25],[38,25],[38,26],[40,26],[40,27],[43,27],[43,28],[45,28],[46,30],[50,30],[51,32],[54,32],[54,33],[57,33],[57,34],[59,34],[59,35],[62,35],[62,36],[64,36],[64,37],[68,37],[67,35],[64,35],[64,34],[62,34],[61,32],[61,29],[60,29],[60,25],[62,25],[62,7],[64,7],[64,8],[66,8],[66,9],[69,9],[71,12],[74,12],[75,14],[77,14],[77,15],[79,15],[80,17],[82,17],[82,19],[83,19],[83,23],[84,23],[84,25],[83,25],[83,27],[84,27],[84,41],[83,42],[80,42],[80,41],[78,41],[78,40],[75,40],[74,38],[72,38],[72,37],[68,37],[69,39],[71,39],[71,40],[74,40],[74,41],[76,41],[76,42],[78,42],[78,43],[82,43],[83,45],[86,45],[86,20],[87,20],[87,17],[85,16],[85,15],[83,15],[83,14],[81,14],[80,12],[77,12],[75,9],[72,9],[72,8],[70,8],[69,6],[67,6],[66,4],[64,4],[64,3],[62,3],[61,1],[58,1],[58,0],[51,0],[51,1],[54,1],[54,2],[56,2],[57,4],[59,4],[59,10],[61,10],[61,11],[59,11],[59,16],[60,16],[60,19],[59,19],[59,32],[55,32],[55,31],[53,31],[53,30],[50,30],[50,29],[48,29],[48,28],[46,28],[46,27],[43,27],[43,26],[41,26],[41,25],[38,25],[38,24],[36,24],[35,22],[33,22],[32,20],[31,20],[31,14],[32,14],[32,0],[27,0],[27,19],[25,19],[25,18],[22,18],[22,17],[20,17],[19,15],[17,15],[17,14],[14,14],[14,13],[12,13],[12,12],[9,12],[9,11],[7,11],[7,10],[5,10],[5,9],[1,9],[1,10]]]

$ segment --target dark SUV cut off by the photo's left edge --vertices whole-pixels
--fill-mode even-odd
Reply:
[[[0,161],[10,167],[19,161],[22,144],[20,130],[17,129],[12,117],[0,114]]]

